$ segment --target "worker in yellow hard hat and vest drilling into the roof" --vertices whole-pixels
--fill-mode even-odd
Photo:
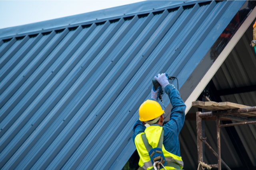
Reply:
[[[152,87],[151,99],[145,101],[140,106],[140,118],[133,127],[132,137],[140,156],[139,169],[154,170],[153,160],[151,161],[150,157],[152,154],[149,155],[148,150],[151,148],[156,149],[157,147],[162,147],[162,152],[167,163],[165,165],[166,169],[182,169],[183,161],[180,156],[178,135],[185,121],[186,105],[180,98],[180,93],[174,85],[169,84],[166,73],[158,74],[154,78],[161,86],[158,89],[154,89],[154,86]],[[160,104],[157,102],[161,88],[168,94],[172,104],[170,121],[165,125],[163,125],[165,117],[164,110],[162,110]],[[162,165],[160,169],[164,170]]]

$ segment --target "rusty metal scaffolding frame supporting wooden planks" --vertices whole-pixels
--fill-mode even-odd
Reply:
[[[208,165],[212,168],[218,168],[221,170],[221,163],[230,170],[227,164],[221,159],[221,152],[220,152],[220,128],[228,127],[228,126],[236,126],[236,125],[247,125],[247,124],[256,124],[256,116],[254,117],[240,117],[237,114],[240,113],[251,113],[256,111],[255,107],[245,107],[240,109],[229,109],[229,110],[217,110],[217,111],[210,111],[210,112],[196,112],[196,132],[197,132],[197,153],[198,153],[198,165],[200,162],[203,162],[203,143],[213,152],[213,154],[218,158],[218,164]],[[218,152],[216,153],[212,147],[206,142],[206,137],[202,137],[202,120],[216,120],[216,129],[217,129],[217,149]],[[233,120],[239,121],[240,123],[229,123],[220,125],[220,120]],[[202,166],[198,167],[199,170],[203,170]]]

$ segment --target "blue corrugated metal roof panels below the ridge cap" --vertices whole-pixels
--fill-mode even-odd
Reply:
[[[185,3],[0,41],[0,168],[113,167],[152,77],[168,72],[182,87],[243,4]]]

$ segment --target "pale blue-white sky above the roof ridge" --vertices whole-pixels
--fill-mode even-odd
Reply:
[[[0,29],[144,0],[0,0]]]

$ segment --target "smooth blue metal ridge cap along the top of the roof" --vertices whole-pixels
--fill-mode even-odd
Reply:
[[[129,17],[138,14],[145,14],[149,12],[157,12],[165,9],[176,8],[179,6],[187,6],[190,4],[207,2],[210,0],[185,0],[185,1],[166,1],[166,0],[152,0],[142,1],[104,10],[87,12],[84,14],[77,14],[63,18],[56,18],[53,20],[40,21],[36,23],[29,23],[26,25],[19,25],[15,27],[8,27],[0,29],[0,39],[9,39],[12,37],[20,37],[29,34],[36,34],[48,32],[67,27],[76,27],[78,25],[87,25],[106,20],[114,20],[122,17]]]

